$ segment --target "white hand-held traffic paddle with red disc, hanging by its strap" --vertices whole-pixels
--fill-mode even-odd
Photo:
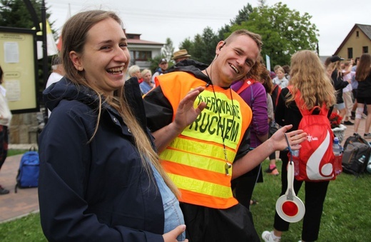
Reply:
[[[290,145],[288,147],[289,150],[291,150]],[[280,196],[275,203],[275,210],[277,211],[278,215],[284,221],[289,223],[296,223],[302,220],[305,214],[304,203],[296,196],[294,191],[294,172],[294,162],[291,158],[291,161],[288,163],[288,189],[286,190],[286,193],[283,196]]]

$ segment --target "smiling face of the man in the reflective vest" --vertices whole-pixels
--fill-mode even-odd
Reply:
[[[259,56],[258,45],[250,36],[235,36],[230,43],[220,41],[214,61],[216,75],[220,78],[220,86],[230,86],[233,81],[243,79],[254,66]]]

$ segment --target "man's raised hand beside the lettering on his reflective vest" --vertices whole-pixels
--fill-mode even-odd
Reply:
[[[193,123],[203,109],[205,109],[205,102],[201,102],[200,105],[195,109],[193,104],[198,94],[203,92],[205,88],[203,86],[198,86],[197,88],[188,92],[188,94],[181,100],[176,111],[176,118],[174,119],[174,125],[179,131]]]

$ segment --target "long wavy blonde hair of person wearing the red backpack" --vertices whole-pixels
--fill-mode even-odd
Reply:
[[[335,89],[313,51],[298,51],[291,57],[290,77],[293,95],[286,100],[286,105],[295,101],[298,89],[308,109],[323,103],[330,109],[336,103]]]

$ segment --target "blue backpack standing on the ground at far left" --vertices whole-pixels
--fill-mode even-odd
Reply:
[[[16,176],[16,187],[14,188],[15,193],[17,188],[39,186],[39,166],[39,153],[32,147],[21,157],[18,174]]]

